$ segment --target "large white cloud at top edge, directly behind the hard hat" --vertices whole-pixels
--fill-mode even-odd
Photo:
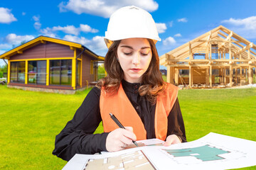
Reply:
[[[110,15],[122,6],[134,5],[146,11],[156,11],[159,4],[154,0],[69,0],[59,4],[60,12],[73,11],[74,13],[88,13],[95,16],[109,18]]]

